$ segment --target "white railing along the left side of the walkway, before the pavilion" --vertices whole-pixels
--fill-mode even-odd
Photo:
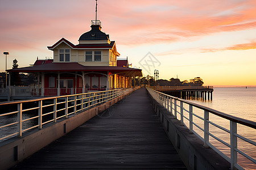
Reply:
[[[139,87],[136,87],[137,89]],[[88,92],[85,94],[44,97],[0,103],[0,142],[31,129],[42,129],[50,122],[68,118],[115,97],[129,94],[133,88]]]

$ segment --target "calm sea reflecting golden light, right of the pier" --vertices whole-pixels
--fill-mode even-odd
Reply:
[[[225,87],[225,88],[214,88],[213,91],[213,100],[191,100],[193,103],[204,105],[209,108],[216,109],[232,116],[245,118],[250,121],[256,121],[256,87]],[[196,112],[196,111],[195,111]],[[200,112],[200,111],[198,111]],[[203,113],[200,113],[203,116]],[[220,117],[210,115],[210,121],[214,123],[217,122],[218,125],[224,126],[226,129],[229,129],[229,121],[226,121]],[[199,124],[202,122],[198,121]],[[203,124],[201,124],[203,125]],[[202,126],[201,126],[202,127]],[[211,127],[210,127],[211,128]],[[237,126],[238,134],[245,136],[246,138],[256,141],[256,130],[252,128],[247,128],[242,125]],[[203,136],[203,133],[199,134]],[[225,131],[216,129],[212,127],[214,135],[223,139],[225,142],[229,143],[230,136]],[[217,142],[215,139],[210,139],[210,142],[219,148],[225,155],[230,156],[230,150],[228,147],[223,145],[220,142]],[[245,152],[247,155],[250,155],[252,158],[256,159],[256,147],[242,140],[238,139],[238,149]],[[242,155],[238,154],[238,163],[245,167],[246,169],[256,169],[256,164],[250,162],[250,160],[245,159]]]

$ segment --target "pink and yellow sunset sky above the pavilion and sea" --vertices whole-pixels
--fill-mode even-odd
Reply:
[[[160,79],[256,86],[255,0],[97,2],[102,31],[144,76],[157,69]],[[47,46],[62,37],[78,44],[93,19],[94,0],[0,0],[0,71],[3,52],[10,53],[8,69],[15,58],[29,66],[36,57],[53,57]]]

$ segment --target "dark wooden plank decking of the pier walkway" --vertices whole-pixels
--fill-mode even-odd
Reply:
[[[13,169],[186,169],[139,89]]]

